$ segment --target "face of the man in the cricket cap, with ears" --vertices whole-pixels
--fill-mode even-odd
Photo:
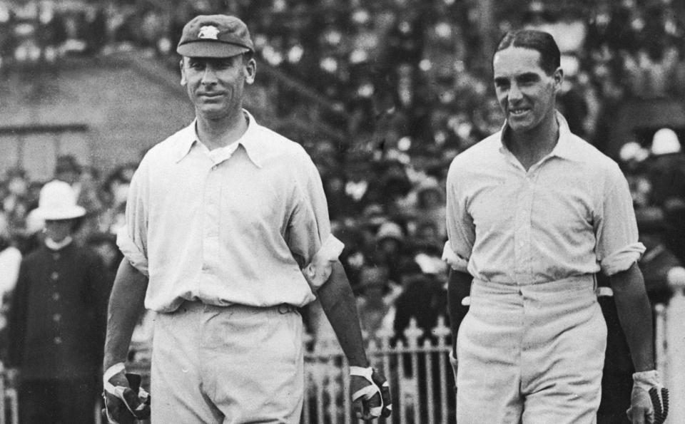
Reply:
[[[242,108],[245,83],[255,80],[255,60],[243,55],[230,58],[183,58],[181,85],[196,113],[208,119],[225,118]]]

